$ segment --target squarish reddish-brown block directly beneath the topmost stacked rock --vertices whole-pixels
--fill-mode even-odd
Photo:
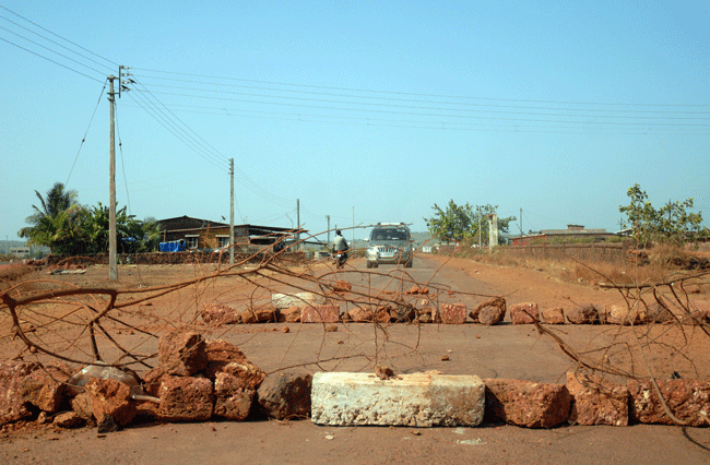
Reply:
[[[214,390],[206,378],[165,377],[157,415],[165,421],[204,421],[214,409]]]

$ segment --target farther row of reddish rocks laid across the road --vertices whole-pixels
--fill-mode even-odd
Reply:
[[[332,293],[339,297],[351,291],[346,282],[336,282]],[[268,322],[284,323],[411,323],[411,324],[483,324],[497,325],[510,313],[512,324],[674,324],[701,325],[710,323],[710,303],[693,301],[690,311],[677,308],[670,301],[634,307],[575,305],[567,309],[551,307],[541,309],[535,302],[507,305],[502,297],[495,297],[478,303],[469,311],[463,303],[447,302],[433,305],[429,289],[413,286],[399,296],[389,296],[380,305],[360,305],[341,310],[340,300],[328,296],[300,291],[273,294],[270,301],[261,301],[247,308],[228,305],[206,303],[200,314],[209,324],[255,324]],[[342,299],[341,299],[342,300]],[[352,306],[350,306],[352,307]]]

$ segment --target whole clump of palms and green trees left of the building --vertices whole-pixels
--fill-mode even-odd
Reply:
[[[42,208],[26,218],[31,224],[22,228],[20,237],[31,245],[47,246],[58,255],[90,255],[108,252],[108,206],[84,207],[75,203],[76,193],[66,191],[57,182],[46,199],[35,191]],[[159,229],[155,220],[141,222],[122,207],[116,212],[116,245],[118,253],[138,253],[157,250]]]

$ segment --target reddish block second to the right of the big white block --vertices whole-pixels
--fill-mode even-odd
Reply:
[[[629,390],[626,385],[595,375],[568,372],[567,391],[572,396],[570,422],[628,426]]]

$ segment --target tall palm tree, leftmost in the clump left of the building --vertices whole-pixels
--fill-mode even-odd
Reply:
[[[63,235],[62,229],[67,227],[67,223],[71,223],[71,217],[81,210],[75,202],[78,194],[74,190],[66,190],[61,182],[55,183],[47,191],[46,198],[37,191],[35,193],[42,207],[32,205],[35,213],[25,218],[31,226],[20,229],[17,235],[27,238],[29,245],[48,246],[54,249],[59,236]]]

